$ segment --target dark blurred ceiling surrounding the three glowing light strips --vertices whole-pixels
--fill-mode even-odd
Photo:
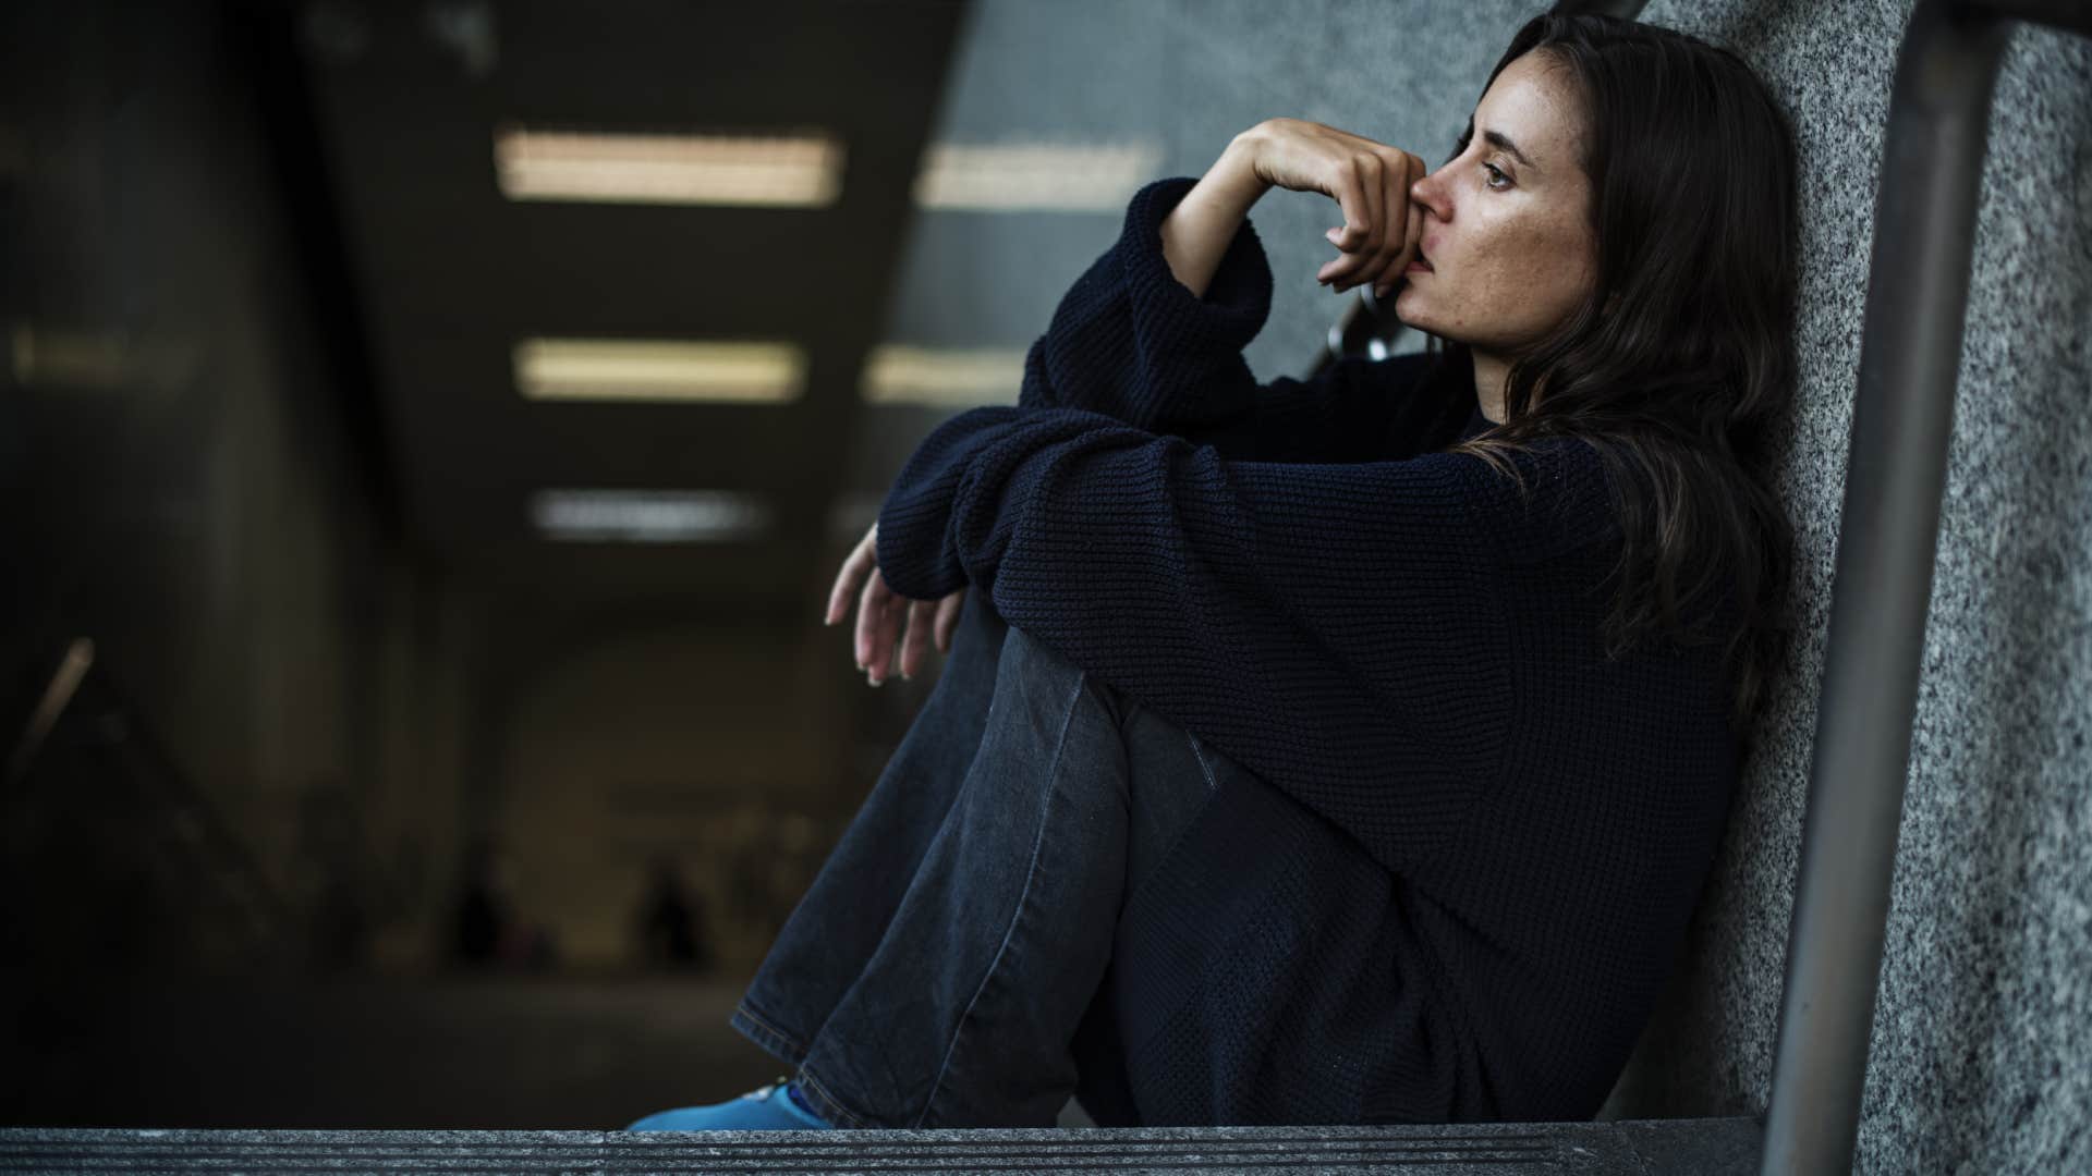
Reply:
[[[504,594],[812,611],[845,527],[860,534],[950,410],[868,408],[918,159],[960,0],[770,4],[347,4],[301,10],[387,458],[416,546]],[[824,130],[847,151],[837,203],[690,207],[510,201],[502,126],[602,132]],[[1044,326],[1038,320],[1033,331]],[[540,402],[529,337],[789,339],[789,404]],[[1015,400],[1015,389],[1010,389]],[[877,416],[877,421],[872,421]],[[699,544],[540,538],[546,488],[753,494],[766,536]]]

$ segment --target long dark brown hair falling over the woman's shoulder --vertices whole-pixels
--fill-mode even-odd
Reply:
[[[1529,50],[1582,90],[1598,274],[1510,364],[1504,423],[1448,452],[1517,477],[1508,454],[1529,442],[1590,444],[1621,529],[1607,655],[1718,647],[1745,743],[1795,628],[1793,525],[1774,490],[1793,431],[1793,126],[1743,59],[1686,33],[1548,13],[1490,82]],[[1441,372],[1473,370],[1466,343],[1427,349]]]

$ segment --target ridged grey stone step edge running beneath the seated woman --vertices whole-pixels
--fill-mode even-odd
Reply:
[[[1088,1128],[927,1132],[0,1130],[36,1172],[1431,1172],[1751,1176],[1759,1124]]]

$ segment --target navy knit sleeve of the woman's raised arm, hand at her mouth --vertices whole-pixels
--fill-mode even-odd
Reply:
[[[1245,218],[1205,297],[1169,272],[1161,224],[1192,188],[1157,180],[1025,354],[1021,408],[1086,408],[1259,460],[1372,460],[1414,450],[1427,406],[1408,391],[1425,356],[1345,358],[1308,381],[1259,385],[1243,347],[1272,308],[1272,270]],[[1408,444],[1404,444],[1408,442]]]

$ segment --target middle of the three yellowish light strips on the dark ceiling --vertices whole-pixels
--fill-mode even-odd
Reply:
[[[782,404],[805,391],[791,343],[523,339],[513,360],[525,400]]]

